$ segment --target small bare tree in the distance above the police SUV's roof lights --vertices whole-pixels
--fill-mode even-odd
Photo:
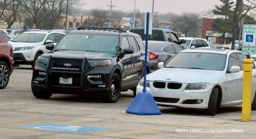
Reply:
[[[93,9],[92,15],[94,20],[98,20],[100,26],[103,26],[105,22],[109,21],[108,11],[103,9]]]

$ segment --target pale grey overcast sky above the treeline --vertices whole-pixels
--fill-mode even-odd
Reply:
[[[86,5],[82,9],[110,9],[110,0],[85,0]],[[152,12],[153,0],[136,0],[136,9],[141,12]],[[165,14],[173,12],[201,12],[213,9],[214,5],[220,5],[220,0],[154,0],[154,11]],[[113,9],[131,12],[134,9],[134,0],[112,0]]]

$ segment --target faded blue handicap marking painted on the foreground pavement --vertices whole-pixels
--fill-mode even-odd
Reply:
[[[17,127],[39,129],[39,130],[62,131],[62,132],[75,132],[75,133],[86,132],[86,131],[108,130],[108,128],[79,127],[79,126],[56,125],[56,124],[24,125],[24,126],[17,126]]]

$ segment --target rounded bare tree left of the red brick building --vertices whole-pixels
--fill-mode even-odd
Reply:
[[[191,29],[199,29],[202,25],[200,15],[195,12],[183,12],[181,15],[174,15],[173,26],[177,32],[182,32],[187,36]]]

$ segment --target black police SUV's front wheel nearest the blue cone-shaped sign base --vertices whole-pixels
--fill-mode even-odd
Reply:
[[[102,101],[107,103],[117,102],[121,93],[121,79],[116,73],[113,74],[108,88],[109,91],[106,95],[101,97]]]

